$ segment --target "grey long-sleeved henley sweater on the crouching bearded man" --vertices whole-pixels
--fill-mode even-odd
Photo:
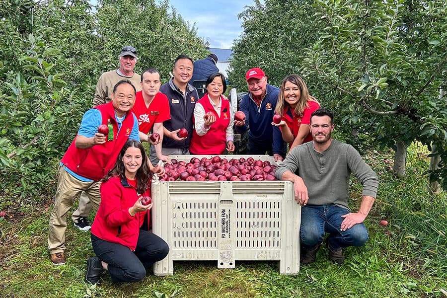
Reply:
[[[363,185],[362,195],[375,198],[378,179],[371,167],[351,145],[332,140],[329,148],[315,151],[313,141],[292,149],[275,171],[277,179],[291,171],[304,181],[308,205],[336,205],[348,208],[348,181],[351,172]]]

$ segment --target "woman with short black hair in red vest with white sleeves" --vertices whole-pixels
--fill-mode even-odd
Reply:
[[[227,98],[225,76],[211,74],[206,82],[207,93],[194,108],[194,131],[189,151],[192,154],[222,154],[234,151],[232,118]]]

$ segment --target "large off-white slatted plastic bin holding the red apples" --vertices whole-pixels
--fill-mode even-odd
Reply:
[[[192,157],[170,158],[188,162]],[[220,155],[222,158],[267,155]],[[289,181],[173,181],[152,183],[152,232],[169,244],[169,254],[153,266],[155,275],[172,275],[173,261],[279,261],[281,274],[299,272],[301,207]]]

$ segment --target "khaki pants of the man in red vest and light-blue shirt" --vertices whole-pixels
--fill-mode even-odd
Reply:
[[[50,215],[48,227],[48,249],[50,254],[65,250],[65,230],[67,229],[67,213],[73,206],[74,198],[84,191],[96,212],[101,201],[99,186],[101,181],[83,182],[65,170],[65,165],[59,168],[58,187],[54,198],[54,207]]]

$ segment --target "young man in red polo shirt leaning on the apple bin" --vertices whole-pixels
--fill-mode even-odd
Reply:
[[[140,140],[149,142],[155,147],[156,157],[163,161],[169,161],[166,155],[161,153],[161,141],[163,140],[163,121],[171,119],[168,98],[160,91],[160,72],[155,68],[149,68],[141,74],[142,90],[135,96],[135,105],[132,112],[137,116]],[[160,139],[152,142],[150,130],[158,133]],[[156,160],[151,160],[156,163]]]

